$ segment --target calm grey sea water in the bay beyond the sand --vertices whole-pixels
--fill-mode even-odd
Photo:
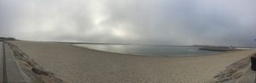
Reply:
[[[220,52],[199,50],[199,47],[177,47],[157,45],[102,45],[102,44],[75,44],[79,47],[100,50],[110,53],[126,53],[154,57],[183,57],[204,54],[218,54]]]

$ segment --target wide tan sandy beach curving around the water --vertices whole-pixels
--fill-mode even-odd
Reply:
[[[256,51],[153,58],[105,53],[53,42],[11,42],[44,69],[73,83],[204,83]]]

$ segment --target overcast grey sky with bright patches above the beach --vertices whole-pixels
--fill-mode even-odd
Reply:
[[[255,0],[0,0],[0,36],[256,47]]]

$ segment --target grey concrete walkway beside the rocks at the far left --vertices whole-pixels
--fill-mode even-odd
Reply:
[[[7,44],[0,42],[0,83],[27,83],[31,82],[15,61],[15,56]]]

